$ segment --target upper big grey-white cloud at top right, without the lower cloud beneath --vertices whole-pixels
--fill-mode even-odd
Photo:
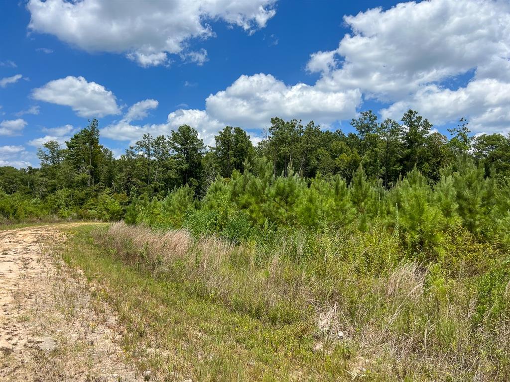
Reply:
[[[323,73],[319,85],[327,89],[360,88],[395,99],[507,58],[510,49],[510,16],[503,2],[400,3],[344,21],[353,33],[336,50],[312,54],[307,66]]]

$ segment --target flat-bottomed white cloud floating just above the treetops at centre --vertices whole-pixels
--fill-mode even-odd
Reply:
[[[329,124],[350,118],[361,103],[358,89],[322,91],[317,86],[288,86],[270,74],[242,75],[231,86],[206,99],[213,118],[244,128],[260,128],[271,117],[315,120]]]

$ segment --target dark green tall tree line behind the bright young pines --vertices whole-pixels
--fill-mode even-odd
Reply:
[[[272,176],[297,176],[308,187],[318,176],[337,176],[349,184],[359,169],[369,184],[381,189],[391,189],[414,169],[435,184],[442,169],[455,168],[461,155],[485,178],[502,181],[510,175],[510,135],[472,137],[468,122],[461,119],[448,139],[431,131],[430,122],[413,110],[400,122],[379,121],[371,111],[362,112],[350,123],[355,132],[347,134],[322,130],[313,121],[304,125],[296,119],[272,118],[257,146],[245,130],[226,126],[215,136],[215,146],[206,147],[193,127],[182,125],[166,137],[144,134],[118,159],[99,143],[98,124],[93,119],[65,145],[45,143],[37,153],[39,168],[0,168],[4,219],[43,214],[121,219],[135,198],[163,199],[187,186],[198,200],[218,178],[260,175],[262,162],[270,166]]]

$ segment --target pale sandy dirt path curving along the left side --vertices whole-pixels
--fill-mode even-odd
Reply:
[[[80,271],[52,254],[65,224],[0,231],[0,381],[138,381],[122,328]]]

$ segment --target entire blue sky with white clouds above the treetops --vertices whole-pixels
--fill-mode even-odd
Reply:
[[[204,4],[0,3],[0,165],[37,166],[93,117],[116,154],[182,123],[257,142],[271,116],[349,131],[368,109],[508,131],[506,1]]]

